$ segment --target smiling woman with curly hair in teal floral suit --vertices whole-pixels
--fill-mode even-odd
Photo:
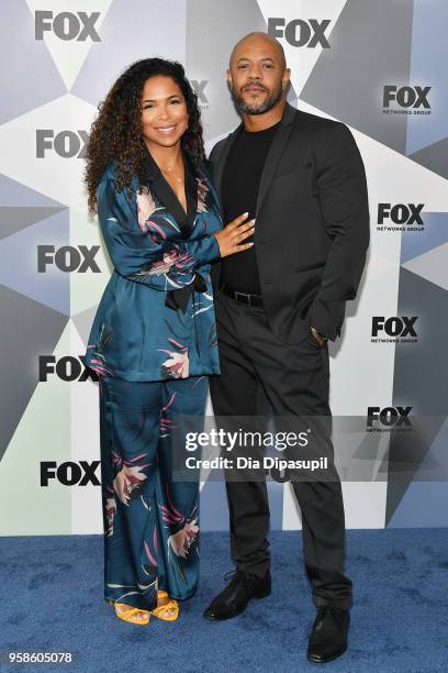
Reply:
[[[171,478],[171,428],[204,415],[219,374],[210,264],[248,249],[247,213],[222,229],[197,97],[148,58],[113,85],[87,150],[89,209],[114,271],[86,362],[100,378],[105,599],[117,617],[173,620],[198,583],[198,482]]]

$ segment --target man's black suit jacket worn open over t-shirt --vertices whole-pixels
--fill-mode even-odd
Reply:
[[[210,155],[221,199],[225,163],[242,129]],[[255,251],[272,331],[288,344],[307,336],[310,326],[336,339],[369,245],[366,175],[345,124],[287,103],[261,175],[256,218]],[[216,264],[215,288],[219,275]]]

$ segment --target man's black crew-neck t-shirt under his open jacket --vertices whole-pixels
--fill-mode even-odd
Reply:
[[[255,132],[243,129],[234,142],[224,167],[222,184],[226,224],[244,212],[248,212],[250,219],[255,218],[262,169],[279,125],[280,122]],[[251,240],[246,239],[244,243]],[[255,245],[245,252],[224,257],[220,282],[235,291],[261,294]]]

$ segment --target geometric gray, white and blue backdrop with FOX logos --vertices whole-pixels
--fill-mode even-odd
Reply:
[[[346,123],[366,164],[371,245],[331,346],[332,408],[365,419],[383,461],[378,478],[344,482],[347,526],[446,526],[444,478],[415,462],[397,476],[394,463],[394,430],[413,417],[436,419],[433,466],[447,451],[446,0],[3,0],[0,11],[0,534],[102,529],[98,384],[80,361],[110,276],[81,180],[99,102],[132,62],[180,60],[210,150],[239,121],[225,70],[256,30],[284,47],[292,104]],[[300,528],[290,485],[269,490],[272,528]],[[203,485],[202,523],[227,527],[220,482]]]

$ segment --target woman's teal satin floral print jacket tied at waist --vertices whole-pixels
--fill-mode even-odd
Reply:
[[[86,363],[100,376],[134,382],[219,374],[209,274],[220,258],[213,233],[223,225],[216,192],[206,167],[190,165],[187,221],[154,159],[147,161],[148,186],[134,178],[132,198],[117,190],[112,163],[98,186],[98,218],[114,271]],[[179,291],[181,308],[168,300]]]

